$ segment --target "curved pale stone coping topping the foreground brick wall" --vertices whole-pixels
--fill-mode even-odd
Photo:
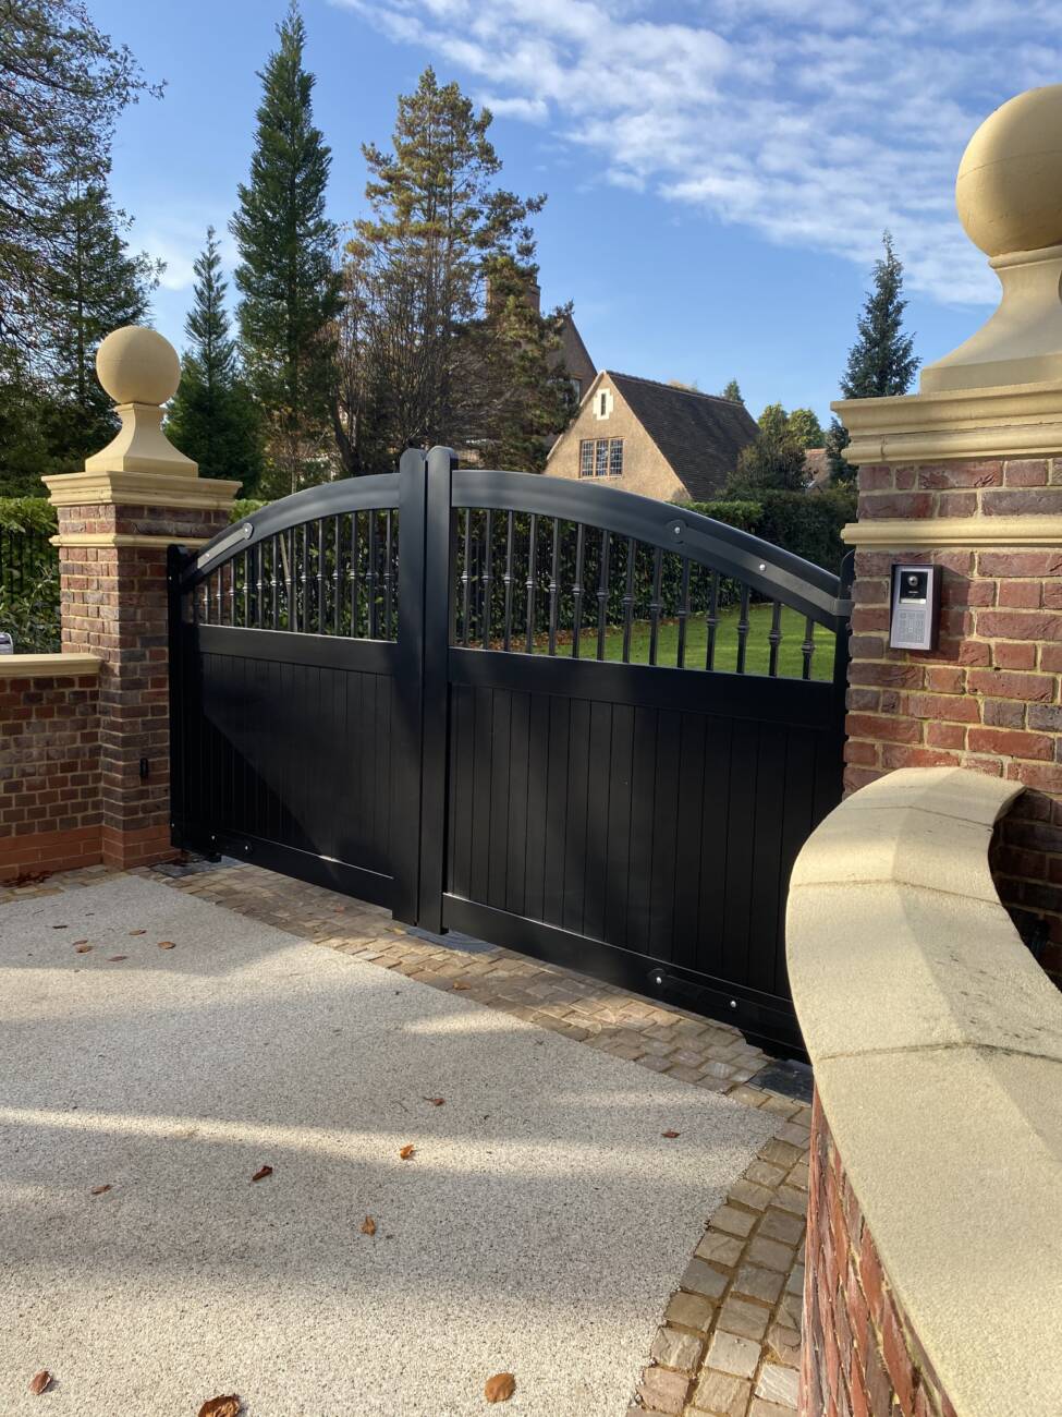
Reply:
[[[1062,1411],[1062,999],[987,859],[1020,791],[879,778],[811,835],[787,905],[823,1110],[959,1417]]]

